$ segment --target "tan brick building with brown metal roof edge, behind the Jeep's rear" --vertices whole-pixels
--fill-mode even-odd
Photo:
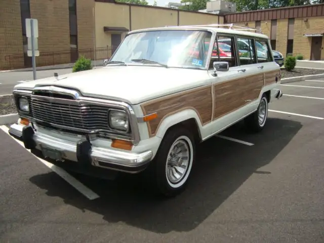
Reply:
[[[224,21],[261,28],[270,37],[272,49],[284,56],[324,60],[324,4],[229,14]]]

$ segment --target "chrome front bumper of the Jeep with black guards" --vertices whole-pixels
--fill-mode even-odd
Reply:
[[[21,131],[19,131],[19,127]],[[53,164],[55,162],[64,164],[64,161],[67,160],[74,161],[74,164],[80,166],[138,173],[148,166],[153,156],[153,152],[150,150],[135,153],[134,151],[94,146],[92,141],[89,142],[80,137],[66,140],[43,133],[35,133],[31,126],[12,126],[11,133],[16,136],[21,133],[21,140],[24,142],[25,148],[41,151],[44,158],[50,159],[49,161],[53,161]],[[59,154],[59,156],[50,156],[53,154]]]

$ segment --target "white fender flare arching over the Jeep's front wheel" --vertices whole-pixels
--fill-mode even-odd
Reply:
[[[179,111],[179,112],[177,112],[177,113],[175,113],[173,115],[170,115],[170,116],[164,118],[161,121],[155,136],[163,139],[166,132],[167,132],[167,130],[170,127],[172,127],[172,126],[174,126],[174,125],[176,125],[178,123],[181,123],[181,121],[185,121],[185,120],[190,119],[190,118],[195,119],[196,124],[198,125],[198,133],[201,136],[201,129],[202,129],[203,126],[201,125],[200,118],[199,118],[197,112],[195,110],[193,110],[193,109],[190,109],[190,108]]]

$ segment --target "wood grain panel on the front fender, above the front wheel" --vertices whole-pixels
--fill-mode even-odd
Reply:
[[[212,87],[197,88],[168,95],[145,102],[141,107],[144,115],[157,112],[157,118],[148,121],[150,137],[155,135],[163,119],[187,108],[194,109],[199,116],[201,124],[205,125],[211,121],[212,117]]]

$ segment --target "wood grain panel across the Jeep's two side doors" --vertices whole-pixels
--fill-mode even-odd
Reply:
[[[263,87],[263,74],[233,79],[214,86],[214,117],[217,119],[257,99]]]

